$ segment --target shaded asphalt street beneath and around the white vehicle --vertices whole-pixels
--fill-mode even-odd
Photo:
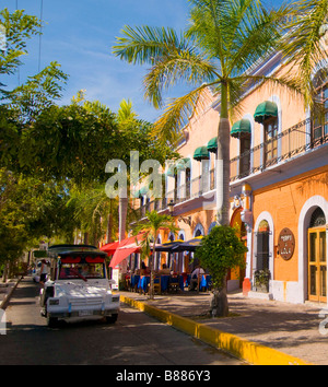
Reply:
[[[14,291],[5,309],[5,335],[0,336],[0,365],[244,364],[125,305],[115,325],[89,321],[48,328],[39,314],[38,292],[31,279]]]

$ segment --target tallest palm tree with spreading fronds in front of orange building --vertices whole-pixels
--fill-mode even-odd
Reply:
[[[190,26],[178,35],[172,28],[126,26],[114,54],[130,63],[151,66],[144,78],[144,94],[162,108],[163,92],[179,81],[192,90],[174,98],[154,126],[154,134],[175,144],[206,87],[220,95],[218,128],[218,223],[229,225],[230,117],[243,93],[255,83],[271,82],[300,92],[286,78],[256,77],[248,71],[261,60],[284,32],[292,8],[266,10],[260,0],[188,0]]]

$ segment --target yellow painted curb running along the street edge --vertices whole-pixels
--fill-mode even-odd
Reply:
[[[124,295],[120,295],[120,301],[210,345],[227,351],[248,363],[255,365],[311,365],[311,363],[272,348],[241,339],[235,335],[225,333],[204,324],[199,324],[189,318],[159,309],[147,303]]]

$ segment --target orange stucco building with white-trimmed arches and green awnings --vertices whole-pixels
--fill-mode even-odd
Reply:
[[[316,78],[319,68],[314,82],[318,98],[328,106],[328,83]],[[253,69],[266,75],[286,71],[292,69],[279,54]],[[245,272],[231,273],[229,290],[243,288],[246,296],[292,303],[327,303],[328,109],[318,117],[300,96],[268,84],[248,90],[242,105],[243,113],[231,120],[231,225],[238,227],[248,253]],[[215,225],[219,112],[218,95],[207,90],[181,132],[177,151],[184,167],[165,171],[166,198],[137,200],[143,211],[166,212],[173,201],[180,232],[162,232],[160,243],[207,235]],[[180,255],[172,265],[186,271],[188,259]],[[270,272],[267,291],[255,285],[259,270]]]

